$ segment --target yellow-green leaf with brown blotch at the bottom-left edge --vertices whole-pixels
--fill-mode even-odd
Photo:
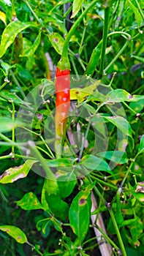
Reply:
[[[25,233],[23,233],[23,231],[18,227],[2,225],[0,226],[0,230],[6,232],[9,236],[12,236],[12,238],[15,238],[15,240],[20,244],[28,242]]]

